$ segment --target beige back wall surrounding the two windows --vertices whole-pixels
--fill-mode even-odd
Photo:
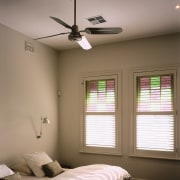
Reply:
[[[62,163],[79,166],[109,163],[126,168],[134,177],[180,179],[180,162],[129,157],[129,70],[180,63],[180,35],[126,41],[93,47],[90,51],[68,50],[59,57],[59,145]],[[120,70],[122,72],[123,156],[80,153],[80,75],[85,72]],[[178,80],[179,81],[179,80]],[[121,98],[121,97],[120,97]],[[178,101],[180,97],[178,95]]]

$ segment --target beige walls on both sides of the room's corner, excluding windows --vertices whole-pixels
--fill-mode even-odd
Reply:
[[[25,41],[32,42],[34,53],[24,50]],[[46,151],[52,158],[73,167],[109,163],[126,168],[134,177],[179,179],[179,161],[129,157],[128,116],[129,69],[177,63],[180,63],[180,35],[57,53],[0,25],[0,163],[10,162],[23,153]],[[80,75],[104,70],[122,71],[121,157],[79,152]],[[61,93],[59,107],[57,89]],[[47,115],[51,124],[44,128],[42,139],[37,139],[41,115]]]

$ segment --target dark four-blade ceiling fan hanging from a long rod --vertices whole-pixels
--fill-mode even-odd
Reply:
[[[58,19],[58,18],[53,17],[53,16],[50,16],[50,18],[53,19],[54,21],[56,21],[57,23],[61,24],[65,28],[70,29],[71,32],[49,35],[49,36],[45,36],[45,37],[36,38],[35,40],[50,38],[50,37],[64,35],[64,34],[69,34],[68,39],[70,41],[75,41],[83,49],[88,50],[88,49],[91,49],[91,45],[87,41],[86,37],[80,34],[81,32],[85,32],[87,34],[92,34],[92,35],[95,35],[95,34],[96,35],[118,34],[118,33],[122,32],[122,28],[120,28],[120,27],[108,27],[108,28],[87,27],[84,30],[79,31],[78,26],[76,24],[76,0],[74,0],[74,25],[70,26],[67,23],[65,23],[64,21],[62,21],[61,19]]]

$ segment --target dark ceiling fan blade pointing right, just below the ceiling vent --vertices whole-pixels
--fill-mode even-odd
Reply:
[[[110,28],[86,28],[85,32],[88,34],[118,34],[122,32],[120,27],[110,27]]]

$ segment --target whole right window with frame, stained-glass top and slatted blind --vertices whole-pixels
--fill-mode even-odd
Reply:
[[[175,158],[176,70],[133,73],[133,154]]]

